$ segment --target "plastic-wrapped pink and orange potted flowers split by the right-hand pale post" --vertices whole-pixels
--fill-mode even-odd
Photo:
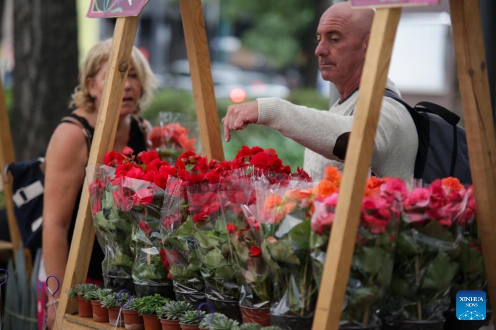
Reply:
[[[341,175],[334,169],[328,168],[327,176],[314,188],[310,245],[318,285],[339,196]],[[384,307],[391,285],[395,236],[405,195],[405,183],[400,179],[372,177],[367,180],[341,315],[342,327],[381,325],[378,313]]]

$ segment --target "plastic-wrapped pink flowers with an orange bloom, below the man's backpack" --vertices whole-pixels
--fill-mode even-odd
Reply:
[[[442,320],[453,287],[479,276],[482,257],[477,258],[477,248],[461,230],[475,214],[468,191],[450,177],[415,188],[405,199],[392,280],[396,297],[388,303],[388,324]],[[483,285],[485,280],[472,283],[477,282]]]

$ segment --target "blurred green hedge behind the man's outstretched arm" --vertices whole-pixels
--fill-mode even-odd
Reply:
[[[329,100],[312,89],[294,90],[288,97],[288,101],[297,105],[319,110],[326,110],[329,108]],[[227,108],[233,104],[233,102],[229,99],[217,99],[216,102],[220,120],[224,117]],[[188,91],[177,89],[160,90],[155,95],[150,106],[142,112],[142,116],[153,123],[156,122],[156,118],[160,111],[186,112],[196,118],[193,95]],[[275,149],[283,161],[283,164],[291,166],[293,171],[296,170],[297,166],[303,166],[304,148],[277,131],[268,129],[263,125],[248,125],[248,127],[243,130],[231,132],[231,140],[226,143],[223,141],[222,124],[220,124],[220,127],[226,160],[233,159],[243,145],[248,147],[259,146],[264,149]]]

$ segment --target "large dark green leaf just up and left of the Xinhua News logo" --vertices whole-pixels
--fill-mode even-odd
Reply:
[[[451,262],[446,252],[439,251],[427,268],[423,289],[441,291],[447,288],[458,271],[458,264]]]

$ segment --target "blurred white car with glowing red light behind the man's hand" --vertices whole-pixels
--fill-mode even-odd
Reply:
[[[272,78],[262,72],[246,71],[237,66],[212,63],[213,88],[216,98],[230,98],[232,102],[260,97],[287,98],[289,88],[274,83]],[[170,75],[164,85],[192,90],[189,63],[186,59],[176,60],[171,64]]]

